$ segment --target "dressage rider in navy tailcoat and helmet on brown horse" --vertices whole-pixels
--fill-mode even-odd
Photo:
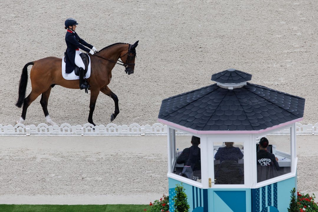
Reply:
[[[82,90],[89,88],[89,85],[84,81],[85,65],[82,58],[79,56],[81,53],[79,49],[89,52],[91,55],[93,55],[97,50],[93,45],[88,44],[85,42],[85,40],[79,38],[75,32],[77,24],[78,23],[74,18],[67,18],[65,21],[65,29],[67,30],[65,35],[65,42],[67,46],[65,72],[73,72],[75,65],[79,67],[79,88]],[[87,46],[89,49],[85,46]]]

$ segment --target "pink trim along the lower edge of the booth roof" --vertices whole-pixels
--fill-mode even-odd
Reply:
[[[288,121],[288,122],[285,122],[285,123],[282,123],[279,125],[275,125],[273,127],[268,127],[266,129],[262,129],[262,130],[246,130],[246,131],[244,131],[244,130],[194,130],[194,129],[191,129],[188,127],[184,127],[184,126],[172,123],[170,121],[158,119],[159,122],[162,122],[168,126],[176,127],[178,129],[187,131],[189,133],[195,133],[195,134],[259,134],[259,133],[264,133],[267,131],[272,131],[274,129],[278,129],[278,128],[281,128],[281,127],[284,127],[284,126],[287,126],[287,125],[290,125],[292,123],[299,122],[302,120],[303,120],[303,117],[301,117],[299,119],[292,120],[292,121]]]

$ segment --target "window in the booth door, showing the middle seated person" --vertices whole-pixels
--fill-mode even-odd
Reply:
[[[244,142],[213,142],[215,184],[244,184]]]

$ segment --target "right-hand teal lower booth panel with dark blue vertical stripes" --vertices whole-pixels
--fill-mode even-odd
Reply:
[[[290,203],[290,192],[297,187],[296,177],[261,188],[251,189],[252,212],[285,212]]]

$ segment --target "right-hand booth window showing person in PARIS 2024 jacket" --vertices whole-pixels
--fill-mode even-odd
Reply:
[[[257,182],[291,172],[291,136],[265,135],[256,143]]]

